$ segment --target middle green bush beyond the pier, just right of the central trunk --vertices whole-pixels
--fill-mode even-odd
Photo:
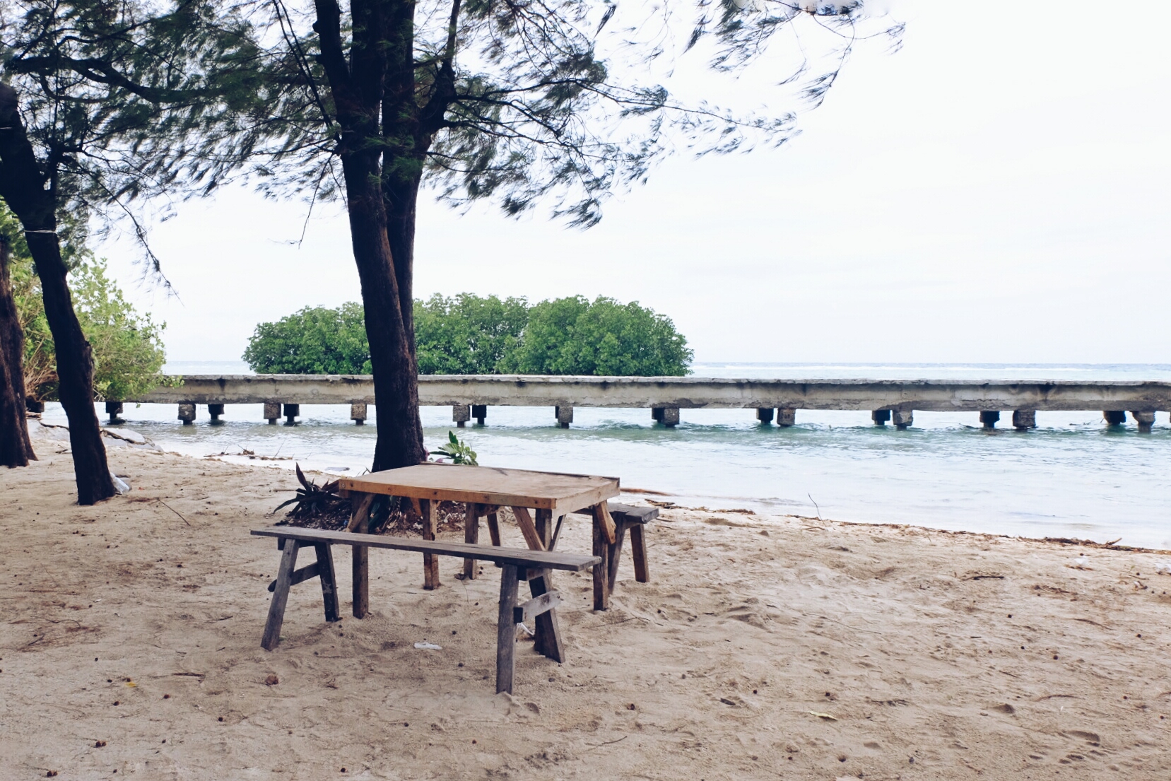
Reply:
[[[422,375],[493,375],[520,343],[528,322],[523,299],[460,293],[415,302],[415,343]]]

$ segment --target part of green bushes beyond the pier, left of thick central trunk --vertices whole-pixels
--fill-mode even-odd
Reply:
[[[368,375],[370,344],[359,303],[306,307],[275,323],[260,323],[244,359],[275,375]]]

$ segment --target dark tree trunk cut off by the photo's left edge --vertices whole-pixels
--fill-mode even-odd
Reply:
[[[8,274],[8,241],[0,235],[0,464],[8,468],[36,460],[25,415],[25,333]]]

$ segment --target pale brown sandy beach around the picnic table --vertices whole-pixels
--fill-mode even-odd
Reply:
[[[0,472],[4,779],[1171,777],[1166,553],[664,508],[652,582],[559,575],[568,660],[495,694],[491,567],[374,552],[357,621],[338,548],[347,617],[295,587],[266,652],[294,475],[111,447],[78,507],[67,444]]]

